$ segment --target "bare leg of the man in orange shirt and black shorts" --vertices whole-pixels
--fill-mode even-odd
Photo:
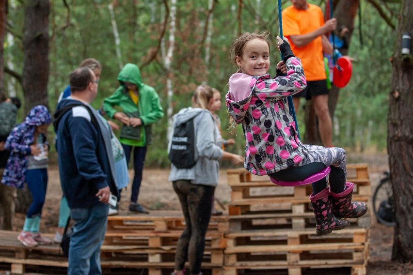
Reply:
[[[318,117],[321,141],[324,147],[333,147],[333,123],[328,110],[328,94],[313,96],[311,99]]]

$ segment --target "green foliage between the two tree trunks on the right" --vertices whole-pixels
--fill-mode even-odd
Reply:
[[[390,6],[395,14],[398,6]],[[342,147],[362,150],[374,146],[384,150],[394,30],[384,23],[376,10],[367,5],[362,8],[362,19],[363,45],[359,39],[359,28],[355,26],[349,56],[356,62],[353,62],[349,84],[340,90],[335,110],[335,122],[339,122],[339,126],[335,126],[339,132],[335,131],[334,139]]]

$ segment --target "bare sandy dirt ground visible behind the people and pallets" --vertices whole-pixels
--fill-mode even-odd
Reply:
[[[369,164],[372,193],[380,181],[381,175],[388,170],[387,156],[385,154],[347,154],[348,163],[365,162]],[[129,170],[133,177],[133,170]],[[49,167],[48,193],[44,206],[41,230],[54,232],[57,228],[59,203],[62,197],[59,171],[57,167]],[[180,210],[179,201],[173,191],[172,184],[168,182],[168,169],[153,169],[146,167],[143,172],[139,203],[150,210]],[[220,173],[219,185],[215,196],[224,205],[230,201],[231,189],[226,184],[226,172]],[[122,192],[120,210],[127,210],[130,198],[130,188]],[[219,205],[216,205],[220,209]],[[226,212],[224,211],[224,214]],[[15,230],[21,230],[24,214],[16,214]],[[399,264],[390,261],[393,245],[393,228],[378,224],[372,215],[370,258],[367,275],[413,275],[412,264]]]

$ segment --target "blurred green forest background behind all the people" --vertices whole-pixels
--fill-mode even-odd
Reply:
[[[325,0],[308,2],[325,9]],[[386,2],[381,5],[395,24],[400,3]],[[372,3],[374,1],[361,1],[349,48],[349,56],[355,59],[353,73],[349,84],[339,92],[334,112],[334,144],[358,152],[383,152],[387,144],[392,76],[389,58],[396,38],[391,22],[383,20]],[[283,0],[283,8],[290,4]],[[165,110],[164,118],[153,129],[154,145],[148,150],[147,167],[169,166],[168,124],[179,109],[191,105],[192,92],[204,81],[222,92],[219,112],[222,134],[224,138],[236,139],[236,145],[229,151],[243,154],[242,129],[237,127],[236,136],[230,136],[226,130],[228,115],[224,95],[228,90],[228,78],[236,71],[229,60],[229,48],[239,32],[268,30],[273,42],[279,35],[275,0],[181,0],[175,5],[176,9],[165,0],[50,1],[50,111],[55,110],[60,92],[68,85],[70,71],[83,59],[93,57],[102,64],[98,95],[92,104],[95,108],[119,86],[120,68],[128,62],[137,64],[141,67],[143,82],[156,89]],[[174,20],[168,18],[173,13],[174,26],[171,24]],[[24,1],[9,0],[3,89],[6,95],[18,96],[23,102],[22,86],[13,73],[21,75],[23,71],[24,16]],[[275,75],[275,65],[280,59],[275,44],[271,47],[270,58],[270,74]],[[36,91],[26,91],[32,92]],[[20,109],[18,122],[27,112],[27,109]],[[300,109],[298,113],[303,137],[304,111]],[[53,140],[53,136],[53,128],[49,127],[49,140]]]

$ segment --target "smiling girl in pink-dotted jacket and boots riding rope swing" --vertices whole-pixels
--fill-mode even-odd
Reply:
[[[330,187],[326,178],[312,183],[310,200],[316,231],[317,235],[325,235],[344,229],[349,221],[341,219],[364,215],[367,205],[351,202],[354,183],[346,183],[346,155],[342,148],[302,144],[287,103],[288,96],[306,86],[302,64],[288,41],[277,37],[284,60],[276,66],[277,76],[271,78],[267,74],[268,35],[269,32],[246,32],[231,46],[231,60],[238,71],[229,78],[226,104],[232,119],[242,124],[246,141],[244,167],[255,175],[295,182],[330,166]]]

